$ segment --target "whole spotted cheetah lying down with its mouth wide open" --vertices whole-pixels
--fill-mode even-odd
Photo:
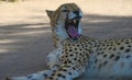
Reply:
[[[82,12],[75,3],[46,10],[56,49],[48,70],[7,80],[132,79],[132,38],[98,39],[81,34]]]

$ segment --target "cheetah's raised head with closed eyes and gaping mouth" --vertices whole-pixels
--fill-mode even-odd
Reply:
[[[81,10],[75,3],[62,4],[57,10],[46,13],[51,20],[54,43],[65,38],[77,39],[81,34],[80,19]]]

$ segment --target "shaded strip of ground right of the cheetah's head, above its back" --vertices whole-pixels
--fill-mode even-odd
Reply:
[[[132,16],[86,14],[82,21],[86,35],[97,37],[132,37]]]

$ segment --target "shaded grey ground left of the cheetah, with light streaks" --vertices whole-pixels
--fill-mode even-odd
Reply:
[[[0,25],[0,80],[36,72],[46,68],[45,55],[53,50],[51,27],[48,23]]]

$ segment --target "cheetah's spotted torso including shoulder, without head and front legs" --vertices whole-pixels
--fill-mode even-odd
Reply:
[[[59,58],[64,59],[62,62],[76,64],[80,69],[88,65],[82,69],[88,78],[132,78],[132,38],[97,39],[81,36],[78,41],[66,41],[64,47],[67,48],[62,50],[65,55],[62,54]]]

